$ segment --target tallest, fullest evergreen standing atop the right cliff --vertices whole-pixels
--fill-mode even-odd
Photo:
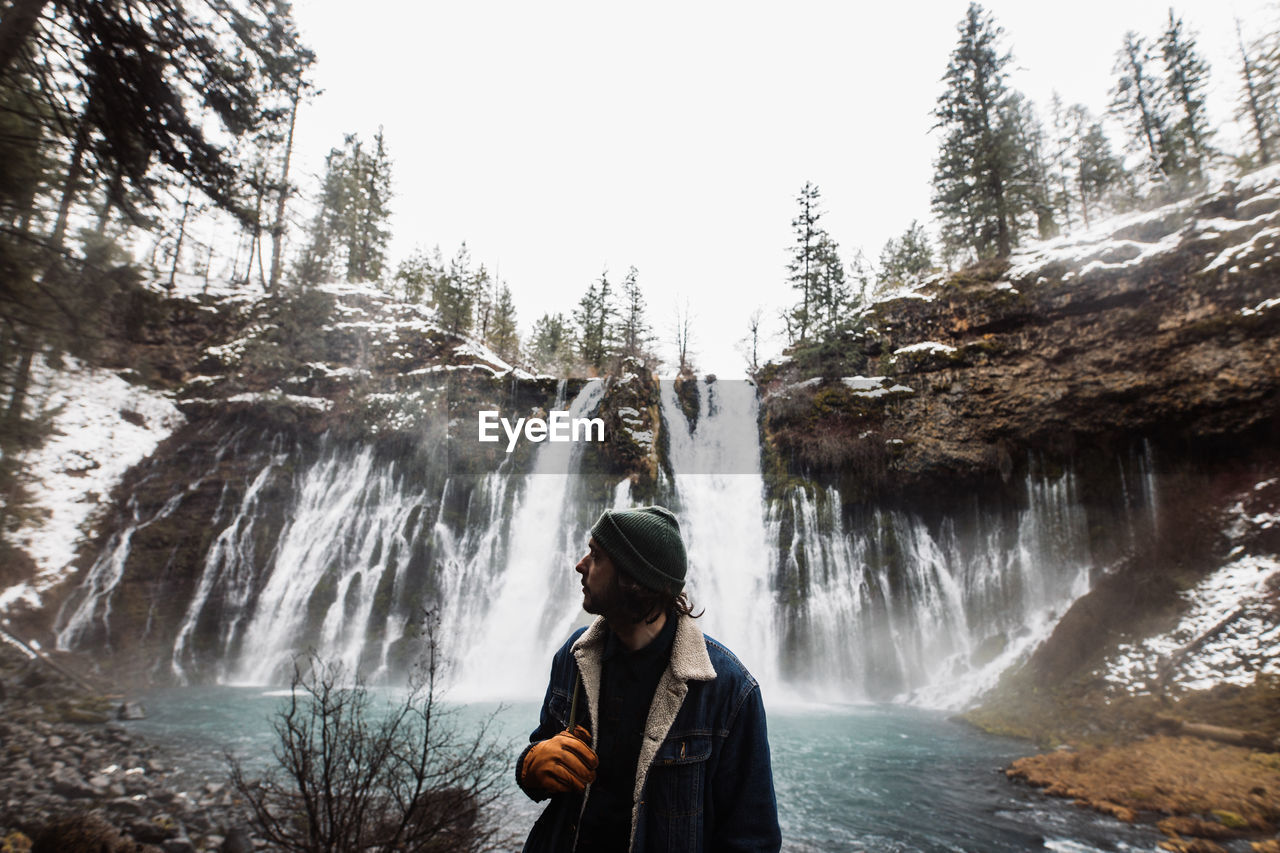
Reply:
[[[968,248],[978,257],[1006,257],[1018,241],[1019,216],[1030,206],[1020,196],[1027,155],[1020,147],[1021,117],[1006,85],[1011,55],[1000,46],[1004,29],[977,3],[957,31],[946,90],[933,111],[945,131],[934,164],[933,210],[952,254]]]

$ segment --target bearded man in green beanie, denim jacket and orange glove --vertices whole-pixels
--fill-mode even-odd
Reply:
[[[676,516],[605,510],[575,570],[596,620],[556,653],[516,762],[552,798],[526,853],[778,850],[760,688],[694,622]]]

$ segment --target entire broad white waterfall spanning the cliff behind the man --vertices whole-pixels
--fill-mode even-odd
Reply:
[[[595,414],[604,386],[586,383],[570,416]],[[842,506],[840,492],[812,483],[767,498],[755,387],[695,388],[690,418],[676,384],[659,383],[667,465],[658,500],[680,519],[700,625],[774,699],[963,704],[1034,648],[1087,592],[1091,571],[1153,523],[1149,448],[1114,475],[1115,553],[1094,552],[1097,528],[1108,525],[1091,521],[1076,475],[1034,461],[1014,507],[974,500],[925,519],[910,507]],[[562,383],[556,407],[564,405]],[[572,571],[589,526],[632,496],[630,479],[584,473],[591,465],[577,442],[534,453],[527,475],[513,457],[465,475],[439,455],[408,465],[372,444],[256,451],[233,469],[242,479],[223,491],[209,521],[216,533],[169,628],[173,675],[279,681],[314,649],[369,679],[399,678],[419,648],[410,624],[430,607],[444,657],[457,662],[456,697],[539,695],[552,652],[590,619]],[[64,608],[60,647],[109,631],[131,542],[198,483],[152,517],[131,502],[132,523]]]

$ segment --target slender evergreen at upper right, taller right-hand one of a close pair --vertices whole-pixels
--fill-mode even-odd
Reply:
[[[1170,131],[1179,149],[1179,178],[1185,184],[1198,184],[1203,179],[1212,136],[1204,108],[1208,64],[1196,49],[1196,37],[1187,32],[1172,9],[1160,38],[1160,53],[1165,60],[1165,90],[1172,104]]]

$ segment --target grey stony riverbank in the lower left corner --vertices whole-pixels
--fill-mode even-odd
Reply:
[[[0,643],[0,849],[253,850],[225,775],[184,770],[120,706]]]

